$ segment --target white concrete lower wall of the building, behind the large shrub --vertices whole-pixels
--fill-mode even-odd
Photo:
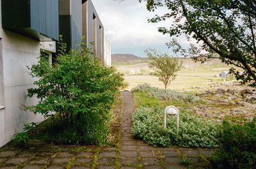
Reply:
[[[5,108],[0,110],[0,147],[10,142],[15,133],[22,131],[25,123],[44,120],[42,115],[22,110],[23,105],[35,105],[38,101],[36,97],[27,96],[27,89],[33,87],[35,80],[29,75],[27,66],[31,67],[32,63],[38,61],[40,48],[52,52],[56,50],[55,42],[40,45],[39,41],[6,30],[3,30],[2,41],[3,77],[0,76],[0,81],[3,81],[4,85],[3,93],[0,94],[4,96],[4,104],[0,106]],[[3,119],[4,125],[1,123]]]

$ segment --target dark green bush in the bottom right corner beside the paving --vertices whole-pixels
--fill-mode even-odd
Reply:
[[[256,168],[255,121],[233,125],[223,122],[220,149],[212,156],[214,168]]]

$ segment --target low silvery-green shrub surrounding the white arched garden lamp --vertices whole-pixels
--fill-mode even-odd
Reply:
[[[151,145],[179,145],[180,147],[217,147],[218,124],[180,112],[179,133],[177,119],[168,118],[164,129],[164,107],[140,107],[132,114],[132,132]]]

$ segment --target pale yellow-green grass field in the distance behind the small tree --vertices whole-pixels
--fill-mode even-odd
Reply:
[[[193,64],[193,62],[191,62]],[[125,81],[129,83],[127,87],[128,90],[131,90],[132,87],[136,87],[138,84],[148,83],[155,87],[164,88],[163,82],[158,80],[158,77],[148,75],[150,72],[149,68],[145,66],[147,64],[135,62],[132,64],[131,62],[127,65],[125,63],[114,64],[118,71],[125,73],[131,72],[131,69],[141,69],[146,72],[146,75],[125,75]],[[141,66],[141,68],[140,68]],[[191,89],[199,86],[207,86],[211,82],[221,82],[223,80],[234,80],[234,78],[220,78],[214,77],[215,75],[219,75],[222,71],[228,71],[231,66],[227,66],[225,64],[220,63],[212,63],[212,64],[195,64],[191,67],[191,65],[186,66],[177,73],[176,79],[169,85],[169,89]]]

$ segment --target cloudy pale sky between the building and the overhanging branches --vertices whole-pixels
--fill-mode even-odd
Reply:
[[[112,54],[134,54],[145,57],[144,50],[147,47],[172,53],[164,45],[170,41],[170,36],[157,31],[157,27],[168,27],[168,22],[152,24],[147,21],[156,13],[166,13],[166,10],[149,12],[145,3],[139,3],[138,0],[125,0],[122,3],[113,0],[92,1],[104,25],[105,34],[111,42]]]

